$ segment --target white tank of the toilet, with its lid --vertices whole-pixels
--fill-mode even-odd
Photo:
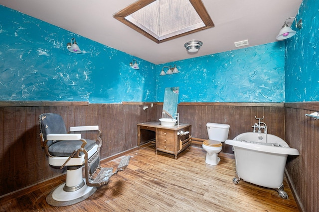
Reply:
[[[208,139],[225,142],[228,138],[230,126],[227,124],[207,123]]]

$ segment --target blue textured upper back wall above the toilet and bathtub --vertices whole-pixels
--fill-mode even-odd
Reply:
[[[181,73],[159,75],[174,64]],[[284,102],[284,66],[284,42],[161,64],[158,100],[179,87],[179,102]]]

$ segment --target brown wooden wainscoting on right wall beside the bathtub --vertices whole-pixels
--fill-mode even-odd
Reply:
[[[301,209],[316,212],[319,208],[319,120],[306,117],[319,103],[285,104],[285,141],[297,148],[299,156],[289,155],[287,171],[299,196]]]

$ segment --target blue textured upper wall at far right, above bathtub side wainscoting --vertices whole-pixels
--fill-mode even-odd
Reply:
[[[286,40],[285,102],[319,101],[319,1],[303,0],[302,29]],[[318,53],[317,53],[318,52]]]

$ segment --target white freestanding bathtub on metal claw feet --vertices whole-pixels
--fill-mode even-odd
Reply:
[[[277,136],[263,133],[243,133],[225,143],[233,146],[235,155],[237,178],[233,179],[234,184],[243,179],[276,189],[282,198],[288,198],[283,187],[286,160],[289,154],[299,155],[297,149],[290,148]]]

